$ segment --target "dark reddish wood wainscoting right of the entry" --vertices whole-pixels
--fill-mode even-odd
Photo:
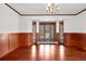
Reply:
[[[65,33],[64,44],[76,47],[86,51],[86,34],[85,33]]]

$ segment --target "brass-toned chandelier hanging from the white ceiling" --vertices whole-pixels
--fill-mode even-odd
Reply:
[[[51,14],[56,14],[60,10],[57,3],[48,3],[46,11]]]

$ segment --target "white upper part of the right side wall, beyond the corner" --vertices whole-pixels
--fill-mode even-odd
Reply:
[[[81,33],[86,33],[86,11],[76,16],[76,29]]]

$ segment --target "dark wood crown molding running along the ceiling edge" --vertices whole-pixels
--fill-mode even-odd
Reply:
[[[16,12],[21,16],[69,16],[69,15],[78,15],[82,12],[86,11],[86,9],[75,13],[75,14],[21,14],[19,11],[16,11],[14,8],[12,8],[9,3],[4,3],[7,7],[9,7],[11,10]]]

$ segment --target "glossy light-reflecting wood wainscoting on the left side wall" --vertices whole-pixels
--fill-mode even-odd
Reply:
[[[0,34],[0,57],[20,47],[19,34]]]

